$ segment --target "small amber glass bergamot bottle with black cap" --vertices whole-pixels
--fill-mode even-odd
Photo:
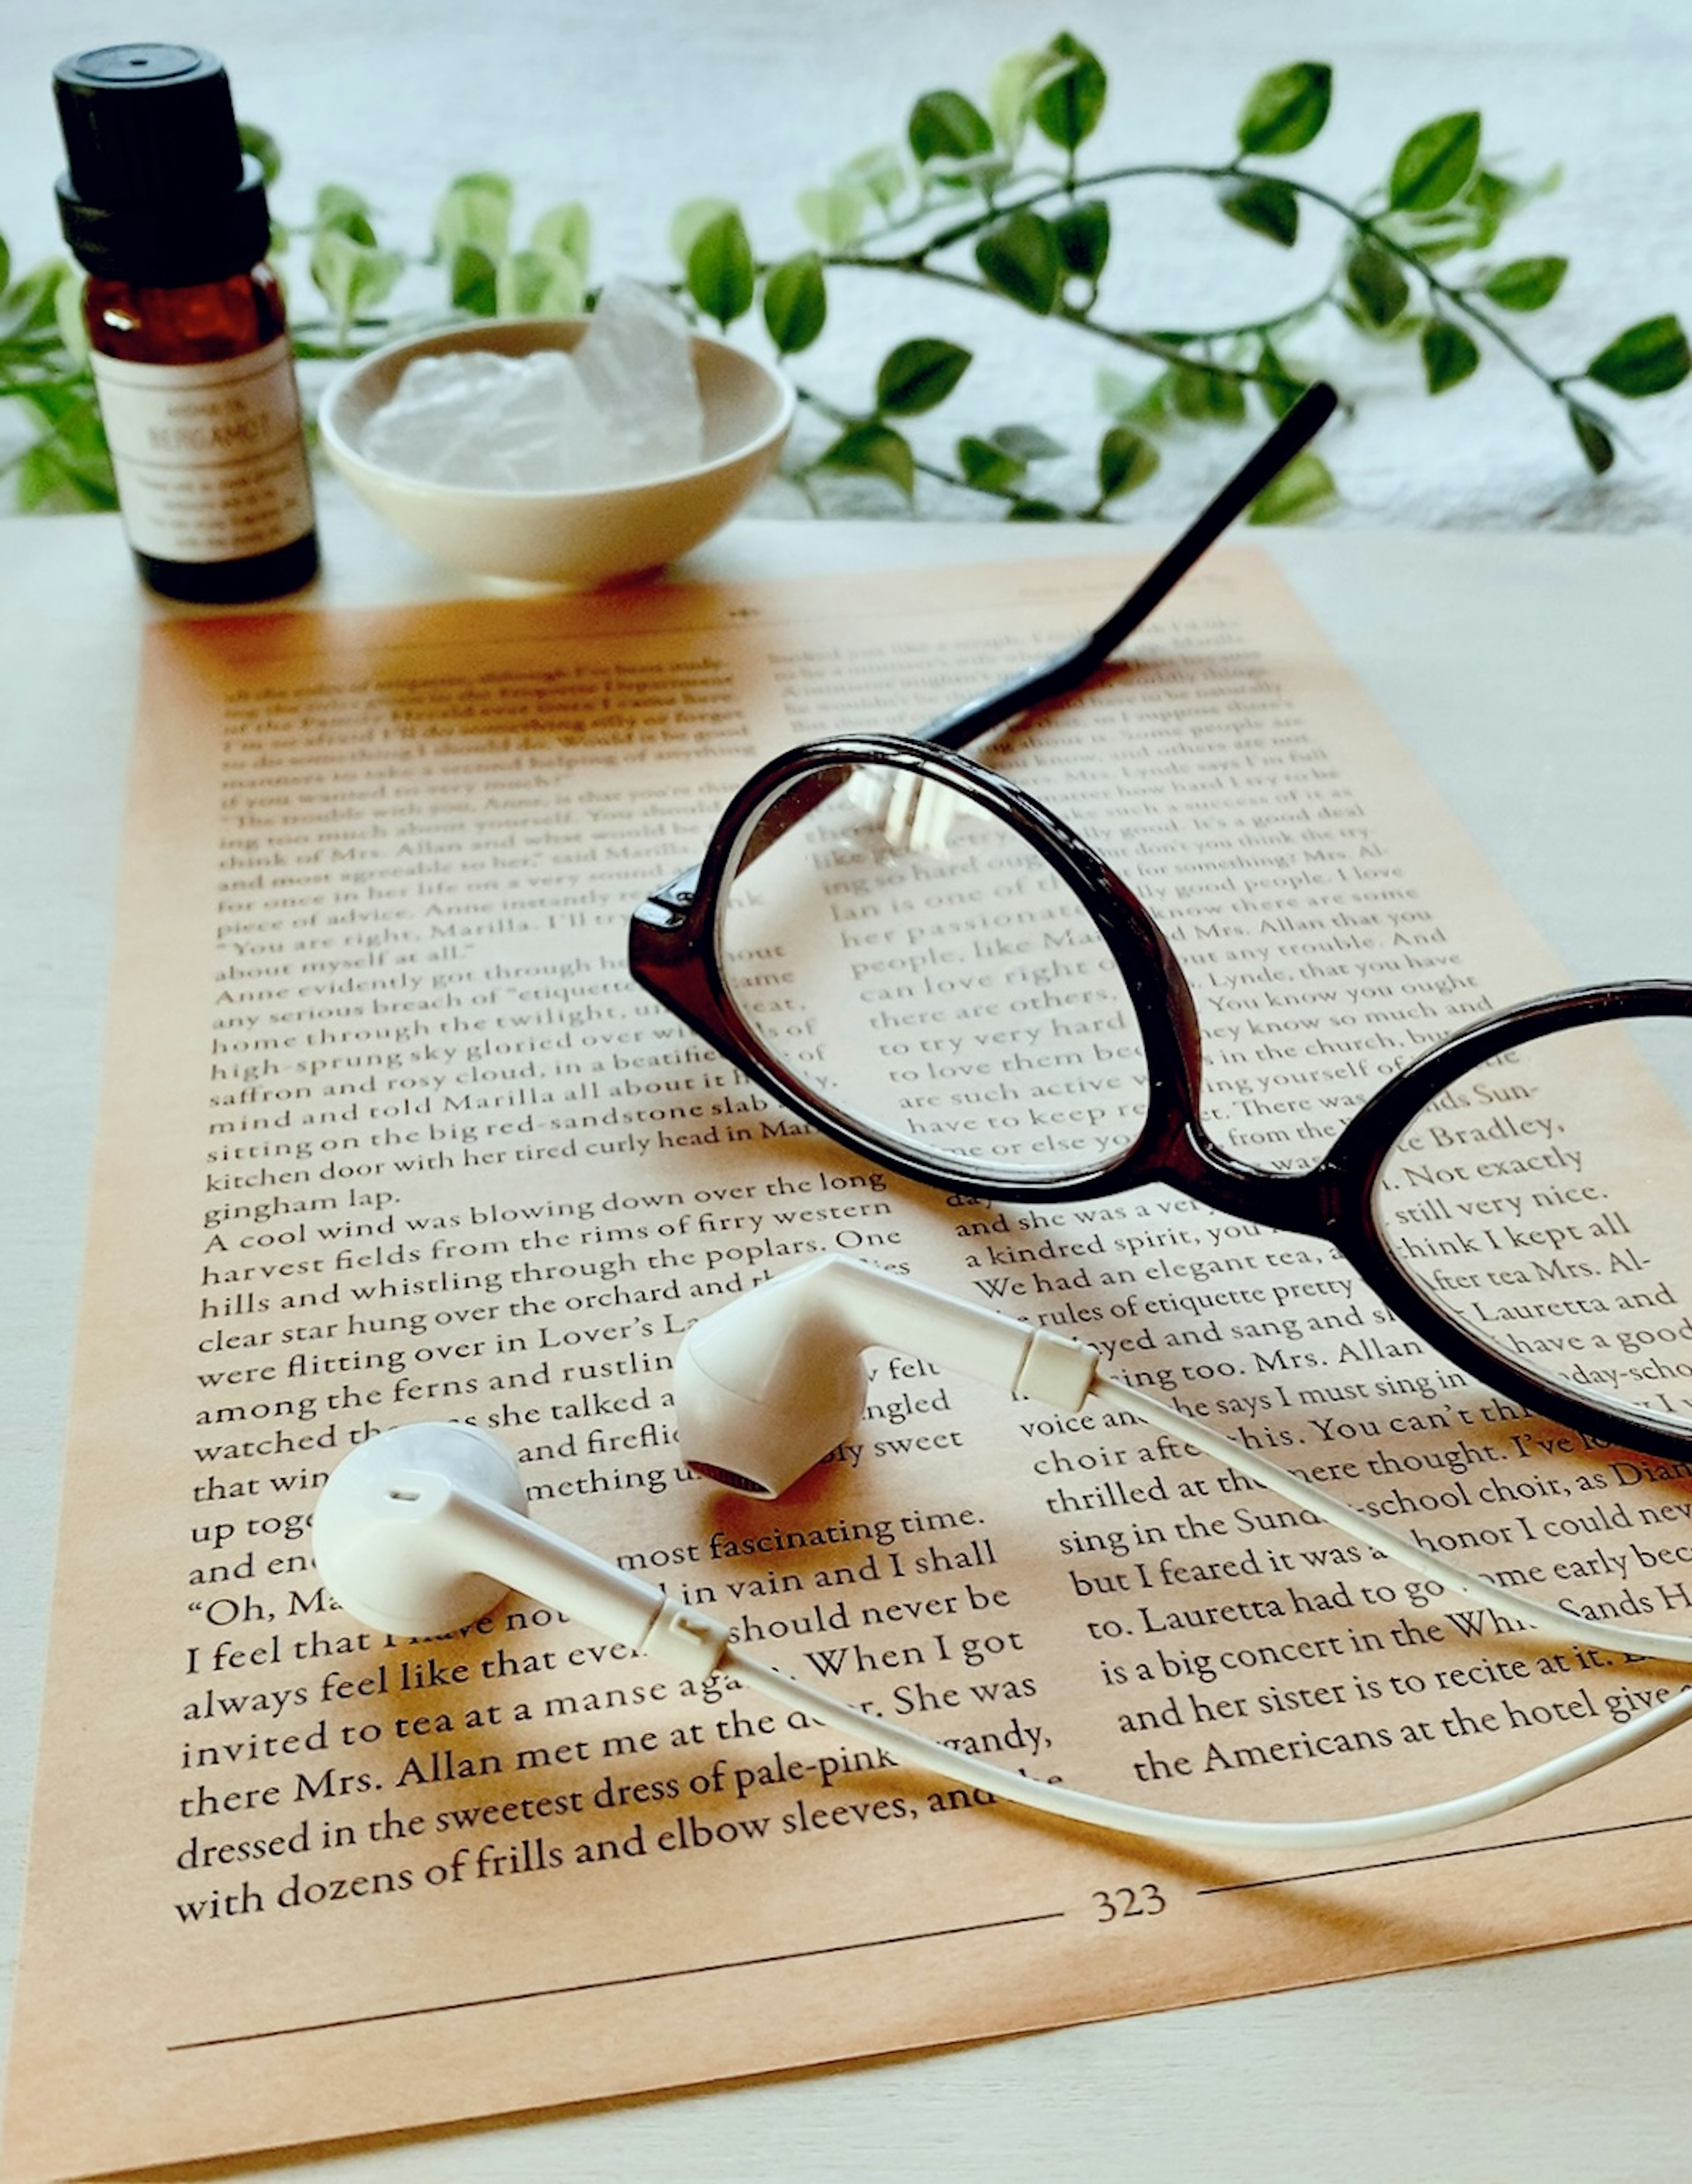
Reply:
[[[194,46],[103,46],[55,70],[65,240],[87,269],[94,384],[146,583],[293,592],[317,529],[271,214],[229,79]]]

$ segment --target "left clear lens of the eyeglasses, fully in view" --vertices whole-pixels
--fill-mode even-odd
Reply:
[[[777,1068],[930,1160],[1015,1182],[1094,1168],[1146,1120],[1096,924],[1024,836],[943,784],[834,767],[777,793],[727,876],[718,965]]]

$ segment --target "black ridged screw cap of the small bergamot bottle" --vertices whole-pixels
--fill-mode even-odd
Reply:
[[[140,288],[251,273],[271,245],[258,159],[229,76],[199,46],[100,46],[52,70],[70,173],[59,225],[76,260]]]

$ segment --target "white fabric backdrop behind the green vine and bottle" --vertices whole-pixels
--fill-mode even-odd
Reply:
[[[317,183],[347,181],[378,205],[384,240],[419,247],[439,188],[476,166],[517,183],[520,218],[565,197],[596,218],[596,271],[670,273],[666,229],[694,194],[736,199],[760,253],[806,238],[799,188],[851,153],[904,135],[913,98],[956,85],[980,98],[998,59],[1063,22],[1111,72],[1087,155],[1227,159],[1244,92],[1266,68],[1334,63],[1334,111],[1290,173],[1358,194],[1384,177],[1417,124],[1476,105],[1489,157],[1517,175],[1565,166],[1563,188],[1511,223],[1493,258],[1561,253],[1570,275],[1537,317],[1511,319],[1552,369],[1585,365],[1637,319],[1692,306],[1692,11],[1685,0],[172,0],[153,22],[131,0],[44,9],[0,0],[0,232],[13,258],[57,249],[50,186],[63,164],[50,70],[65,52],[135,35],[218,50],[242,114],[284,144],[277,210],[306,218]],[[1306,212],[1292,253],[1223,221],[1203,183],[1118,197],[1113,269],[1137,323],[1231,323],[1321,286],[1332,227]],[[293,280],[303,288],[299,256]],[[963,389],[917,437],[1037,419],[1089,448],[1103,417],[1103,343],[1013,308],[893,275],[841,277],[834,323],[803,378],[862,404],[893,341],[934,332],[978,343]],[[758,334],[742,321],[740,339]],[[1336,325],[1306,354],[1367,395],[1323,452],[1347,505],[1334,522],[1524,531],[1683,531],[1692,518],[1692,387],[1642,404],[1600,397],[1637,454],[1589,480],[1561,411],[1491,354],[1430,402],[1415,345],[1365,347]],[[1170,452],[1124,505],[1137,520],[1190,511],[1238,461],[1227,432]],[[1087,472],[1074,476],[1085,489]],[[845,507],[845,502],[843,502]],[[860,489],[851,513],[893,513]],[[978,500],[939,502],[956,515]],[[760,513],[797,511],[773,489]]]

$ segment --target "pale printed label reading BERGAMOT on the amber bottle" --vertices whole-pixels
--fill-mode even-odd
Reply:
[[[286,336],[221,365],[90,363],[135,553],[240,561],[312,529]]]

